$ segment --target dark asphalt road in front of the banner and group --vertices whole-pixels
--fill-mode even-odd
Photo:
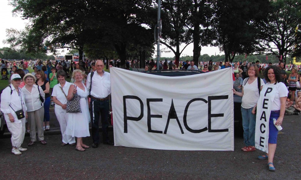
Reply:
[[[27,147],[22,155],[11,153],[8,136],[0,139],[0,179],[300,179],[300,116],[284,117],[274,158],[275,172],[259,150],[243,152],[240,132],[234,151],[167,151],[100,144],[85,152],[60,146],[60,134],[45,134],[47,145]],[[109,135],[113,139],[113,132]],[[87,145],[92,138],[83,139]]]

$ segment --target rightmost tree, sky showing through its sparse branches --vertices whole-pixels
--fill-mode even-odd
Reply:
[[[301,2],[275,0],[270,1],[270,4],[271,13],[268,14],[268,19],[258,25],[264,40],[261,47],[271,54],[278,55],[279,61],[284,60],[286,63],[287,55],[298,52],[301,43]]]

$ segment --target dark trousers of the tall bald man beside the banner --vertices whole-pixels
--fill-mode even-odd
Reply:
[[[99,117],[101,117],[102,140],[103,142],[109,141],[109,100],[100,101],[91,98],[90,108],[93,143],[99,143]]]

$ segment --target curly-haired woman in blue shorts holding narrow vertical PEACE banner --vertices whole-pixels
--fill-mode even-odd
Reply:
[[[262,93],[258,100],[257,108],[257,117],[256,117],[256,129],[261,131],[262,134],[259,135],[259,131],[256,130],[256,148],[262,149],[266,147],[265,144],[265,124],[264,120],[269,119],[268,123],[268,151],[262,149],[265,152],[268,152],[265,155],[259,156],[258,159],[268,159],[268,170],[275,171],[273,165],[273,158],[276,151],[277,145],[277,135],[278,129],[277,126],[280,126],[283,121],[283,116],[285,112],[285,102],[287,99],[287,87],[284,83],[281,82],[281,73],[277,66],[268,66],[263,72],[267,84],[262,88]],[[255,108],[253,108],[252,113],[255,113]],[[262,115],[265,114],[265,117]],[[262,120],[264,119],[264,120]],[[276,120],[275,125],[273,119]],[[262,125],[263,124],[263,125]],[[257,133],[258,132],[258,133]],[[259,137],[262,136],[262,137]],[[257,138],[258,137],[258,138]],[[262,146],[260,145],[262,144]],[[261,146],[261,147],[260,147]]]

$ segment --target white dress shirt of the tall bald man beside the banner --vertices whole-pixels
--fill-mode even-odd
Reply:
[[[88,74],[86,87],[90,90],[91,73]],[[96,98],[106,98],[111,93],[110,73],[104,71],[104,75],[100,76],[97,71],[94,72],[92,77],[91,96]]]

